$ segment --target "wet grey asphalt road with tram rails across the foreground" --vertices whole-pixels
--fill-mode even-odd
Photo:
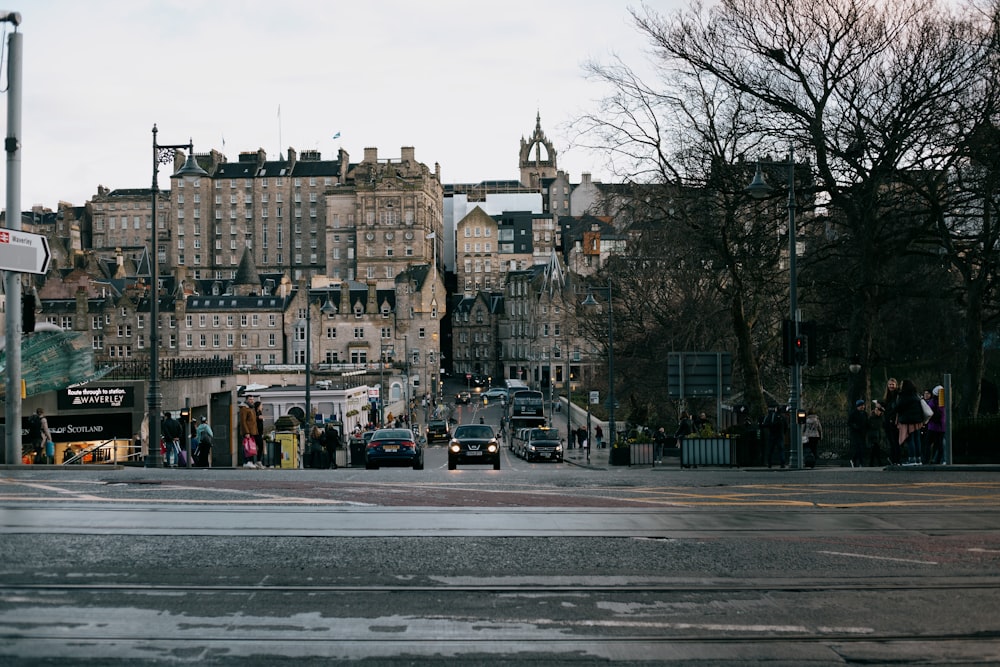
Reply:
[[[0,471],[0,661],[1000,663],[1000,473],[598,453]]]

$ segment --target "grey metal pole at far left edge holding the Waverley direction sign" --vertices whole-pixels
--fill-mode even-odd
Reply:
[[[0,20],[14,24],[7,38],[7,228],[21,229],[21,33],[17,26],[21,15],[7,12]],[[8,465],[21,462],[21,274],[4,274],[7,294],[7,330],[4,337],[7,356],[6,405],[4,407],[5,449]]]

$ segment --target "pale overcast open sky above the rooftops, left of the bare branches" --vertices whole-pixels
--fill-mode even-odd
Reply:
[[[681,0],[648,4],[666,13]],[[154,123],[161,144],[192,138],[230,161],[289,146],[324,159],[343,147],[352,162],[374,146],[398,159],[413,146],[455,183],[518,178],[520,139],[540,112],[571,180],[607,182],[600,156],[569,149],[566,123],[606,92],[582,64],[647,62],[627,12],[640,0],[24,5],[5,7],[21,13],[24,36],[22,210],[82,205],[98,185],[149,187]],[[6,52],[3,67],[5,84]]]

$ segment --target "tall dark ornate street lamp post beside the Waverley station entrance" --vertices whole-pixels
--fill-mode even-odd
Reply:
[[[148,419],[149,419],[149,440],[147,442],[146,467],[158,468],[160,460],[160,249],[159,230],[156,219],[157,200],[159,199],[160,186],[157,183],[157,176],[160,172],[161,164],[169,164],[173,161],[177,151],[186,148],[188,151],[187,160],[184,166],[177,171],[174,176],[183,178],[197,178],[208,176],[208,172],[198,166],[194,159],[194,142],[188,141],[186,144],[162,145],[156,143],[156,125],[153,125],[153,184],[152,184],[152,209],[150,216],[153,223],[152,257],[150,258],[149,277],[149,393],[147,396]]]

